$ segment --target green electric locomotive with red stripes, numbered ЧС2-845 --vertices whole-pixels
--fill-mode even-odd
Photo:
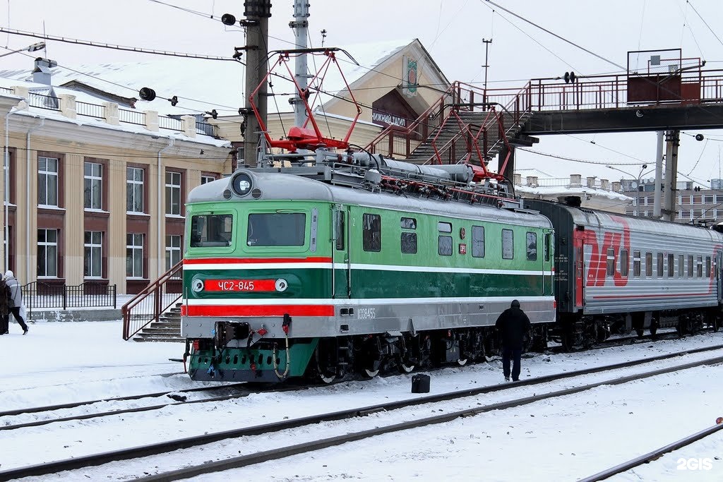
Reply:
[[[466,165],[355,156],[243,168],[191,191],[181,332],[192,379],[331,382],[464,364],[495,350],[515,298],[544,344],[547,218],[470,184]]]

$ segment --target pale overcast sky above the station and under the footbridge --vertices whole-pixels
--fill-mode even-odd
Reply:
[[[98,43],[213,56],[231,56],[234,46],[244,45],[244,34],[239,27],[224,27],[218,22],[226,12],[243,17],[243,0],[161,1],[167,4],[153,0],[0,0],[0,25]],[[293,1],[272,3],[270,47],[289,47],[294,38],[288,27]],[[482,85],[482,39],[492,38],[490,88],[521,87],[529,79],[557,77],[570,70],[583,75],[620,72],[618,66],[627,64],[628,51],[649,49],[682,48],[684,57],[700,57],[707,61],[706,68],[723,69],[720,0],[497,1],[502,7],[596,55],[570,46],[484,0],[309,0],[309,3],[311,46],[320,46],[322,29],[328,32],[327,46],[419,38],[450,80]],[[20,35],[0,34],[0,46],[10,50],[36,41],[38,39]],[[154,58],[142,53],[52,40],[47,44],[47,56],[65,66]],[[4,51],[7,50],[0,49],[0,53]],[[4,56],[0,59],[0,69],[30,68],[32,59],[40,53]],[[189,75],[199,74],[189,72]],[[685,134],[681,136],[678,170],[707,185],[710,178],[723,177],[720,165],[723,131],[702,133],[706,135],[703,142]],[[597,163],[637,163],[618,166],[636,177],[641,172],[641,163],[652,167],[656,137],[654,133],[547,136],[542,137],[534,149]],[[539,168],[555,177],[566,177],[570,173],[613,180],[627,177],[604,165],[529,152],[518,153],[518,168]],[[679,180],[682,179],[679,176]]]

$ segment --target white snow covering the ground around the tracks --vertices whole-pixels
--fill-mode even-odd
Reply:
[[[17,324],[11,324],[10,331],[11,335],[0,337],[0,362],[6,367],[0,374],[0,411],[200,386],[181,373],[182,363],[168,361],[168,358],[181,358],[184,349],[181,343],[125,342],[121,338],[121,322],[35,323],[30,325],[27,336],[20,335]],[[523,359],[522,378],[720,344],[723,344],[723,333],[584,353],[536,355]],[[716,353],[721,355],[720,351]],[[707,356],[701,354],[685,360],[659,362],[656,367]],[[650,368],[643,367],[638,372]],[[616,387],[599,387],[570,397],[380,436],[313,455],[288,457],[231,473],[205,475],[196,480],[575,480],[712,425],[716,417],[723,416],[720,404],[723,386],[718,382],[721,372],[721,366],[714,366]],[[154,467],[158,465],[161,470],[166,470],[163,467],[168,464],[170,470],[173,463],[198,457],[199,460],[214,460],[217,455],[238,455],[251,449],[268,449],[333,436],[340,433],[339,430],[363,430],[382,423],[429,416],[434,414],[432,410],[458,410],[608,378],[609,375],[597,375],[578,382],[547,384],[546,387],[518,387],[510,393],[481,395],[442,408],[422,405],[399,413],[375,414],[351,425],[327,423],[299,431],[291,439],[274,435],[255,440],[236,439],[214,444],[213,448],[203,451],[189,449],[168,454],[163,457],[166,462],[154,460],[148,463]],[[499,360],[462,369],[444,369],[432,374],[432,393],[499,384],[501,379]],[[0,470],[95,451],[134,447],[203,431],[220,431],[269,423],[284,417],[419,396],[411,394],[410,387],[410,375],[390,376],[333,387],[252,394],[215,403],[213,407],[176,405],[102,420],[28,427],[13,431],[13,437],[0,436]],[[98,408],[91,411],[94,410]],[[0,418],[0,425],[24,423],[37,417],[27,413]],[[719,432],[675,455],[621,474],[615,480],[723,480],[722,441],[723,434]],[[709,458],[710,468],[677,469],[679,464],[676,462],[681,457],[686,460]],[[106,472],[101,475],[98,469],[90,468],[84,471],[83,478],[120,480],[142,473],[143,463],[117,462],[111,470],[111,478]],[[61,476],[43,480],[73,478]]]

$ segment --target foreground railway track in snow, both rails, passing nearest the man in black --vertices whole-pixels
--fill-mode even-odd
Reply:
[[[356,418],[359,416],[368,415],[371,413],[383,413],[390,410],[399,410],[401,408],[408,408],[414,405],[422,405],[424,403],[440,403],[449,400],[461,399],[463,397],[471,397],[475,395],[482,395],[492,392],[503,392],[510,390],[510,388],[517,387],[531,387],[549,382],[555,382],[557,380],[568,379],[574,376],[583,376],[588,374],[596,374],[604,371],[613,371],[617,369],[625,369],[633,366],[643,365],[646,363],[655,363],[666,359],[675,357],[685,356],[693,353],[705,353],[712,350],[721,350],[723,345],[716,345],[714,347],[698,348],[695,350],[685,350],[683,352],[671,353],[664,356],[656,356],[652,358],[646,358],[644,360],[631,361],[625,363],[616,363],[608,366],[598,366],[592,369],[586,369],[581,371],[570,371],[562,374],[555,374],[549,376],[541,376],[536,379],[529,379],[523,382],[517,382],[514,384],[500,384],[492,387],[479,387],[475,389],[466,389],[456,392],[448,392],[440,395],[428,395],[424,397],[418,397],[411,400],[393,401],[388,403],[382,403],[378,405],[369,405],[361,408],[352,408],[348,410],[340,410],[335,413],[326,413],[315,416],[308,416],[304,418],[295,418],[292,420],[283,420],[274,423],[267,423],[265,425],[251,426],[243,429],[234,429],[228,431],[221,431],[211,434],[203,434],[200,436],[192,436],[184,439],[176,439],[168,442],[161,442],[157,444],[149,444],[142,447],[132,447],[127,449],[116,450],[113,452],[105,452],[102,454],[94,454],[80,457],[73,457],[72,459],[59,460],[56,462],[46,462],[40,465],[27,466],[22,468],[14,468],[0,472],[0,481],[7,481],[12,478],[20,478],[32,475],[48,475],[51,473],[58,473],[63,470],[76,470],[79,468],[87,468],[90,466],[103,465],[108,462],[116,462],[119,460],[130,460],[140,457],[148,457],[153,455],[161,455],[167,452],[171,452],[177,449],[187,449],[189,447],[197,447],[203,444],[210,444],[212,442],[220,442],[226,439],[233,439],[241,436],[254,436],[261,434],[270,434],[271,432],[278,432],[289,429],[296,429],[303,426],[311,426],[317,423],[327,421],[340,421],[350,418]],[[214,472],[218,470],[227,470],[228,468],[243,467],[246,465],[252,465],[254,463],[262,462],[264,460],[273,460],[280,457],[286,457],[288,455],[294,455],[303,452],[309,452],[312,450],[318,450],[324,447],[332,447],[333,445],[350,442],[354,440],[368,438],[370,436],[390,433],[393,431],[400,431],[406,429],[412,429],[418,426],[431,425],[433,423],[443,423],[446,421],[452,421],[455,418],[474,416],[479,413],[484,413],[490,410],[501,410],[504,408],[512,408],[529,403],[534,403],[539,400],[545,400],[552,397],[561,397],[570,395],[584,390],[591,390],[594,387],[599,387],[604,384],[620,384],[630,382],[633,380],[642,379],[649,376],[656,376],[658,374],[669,373],[671,371],[678,371],[683,369],[692,368],[694,366],[701,366],[703,364],[712,363],[723,363],[723,356],[716,358],[710,358],[703,361],[696,361],[693,363],[687,363],[684,365],[672,366],[666,369],[658,369],[650,371],[645,374],[633,374],[630,376],[623,376],[615,379],[607,379],[602,382],[596,382],[593,384],[586,384],[582,387],[575,387],[572,389],[558,390],[556,392],[549,392],[542,395],[534,395],[532,397],[522,397],[515,400],[510,400],[502,403],[494,403],[490,405],[480,405],[474,408],[466,410],[458,410],[451,413],[445,413],[440,416],[432,416],[429,418],[416,419],[414,421],[406,423],[398,423],[391,426],[382,426],[377,429],[369,431],[359,431],[348,434],[346,436],[337,436],[328,439],[322,439],[317,442],[309,442],[304,444],[297,444],[291,447],[283,447],[279,449],[273,449],[265,452],[258,452],[254,454],[244,455],[241,457],[235,457],[233,459],[223,460],[221,462],[207,462],[202,464],[202,467],[187,468],[181,471],[176,471],[168,474],[153,475],[148,480],[174,480],[177,478],[191,477],[194,475],[200,475],[201,473]],[[478,404],[479,405],[479,404]],[[199,471],[200,470],[200,471]],[[170,475],[169,475],[170,474]],[[155,477],[155,478],[154,478]],[[166,478],[164,478],[166,477]]]

